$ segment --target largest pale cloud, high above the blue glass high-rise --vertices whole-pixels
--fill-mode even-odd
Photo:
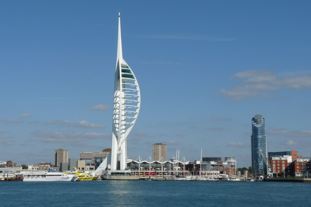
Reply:
[[[240,84],[221,89],[219,92],[231,100],[251,97],[271,98],[276,90],[311,88],[311,75],[277,77],[267,70],[246,70],[233,75],[231,78],[240,80]]]

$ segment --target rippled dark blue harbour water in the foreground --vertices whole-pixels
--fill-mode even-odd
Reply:
[[[311,206],[311,184],[274,182],[0,182],[1,207]]]

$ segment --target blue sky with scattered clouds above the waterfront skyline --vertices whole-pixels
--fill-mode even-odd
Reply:
[[[310,157],[310,1],[0,1],[0,160],[111,147],[118,13],[141,90],[128,157],[153,143],[188,160],[251,165],[251,118],[268,151]]]

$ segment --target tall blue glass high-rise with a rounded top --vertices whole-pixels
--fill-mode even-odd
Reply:
[[[252,118],[252,174],[267,175],[267,137],[264,118],[257,114]]]

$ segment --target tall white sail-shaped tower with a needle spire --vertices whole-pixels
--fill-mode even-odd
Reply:
[[[119,13],[118,51],[113,99],[111,170],[125,170],[127,162],[126,137],[132,130],[140,108],[140,92],[136,77],[123,60],[121,21]],[[120,161],[120,165],[118,162]]]

